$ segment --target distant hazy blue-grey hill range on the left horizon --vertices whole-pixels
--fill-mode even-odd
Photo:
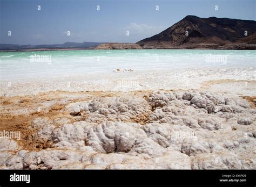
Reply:
[[[65,48],[91,48],[103,44],[100,42],[65,42],[64,44],[53,45],[15,45],[15,44],[0,44],[0,50],[21,50],[21,49],[65,49]]]

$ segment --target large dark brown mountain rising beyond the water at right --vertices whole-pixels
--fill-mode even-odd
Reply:
[[[143,48],[240,48],[243,46],[241,48],[256,49],[255,33],[256,21],[253,20],[186,16],[163,32],[140,40],[137,44]]]

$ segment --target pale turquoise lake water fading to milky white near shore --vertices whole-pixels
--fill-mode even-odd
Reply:
[[[82,50],[0,52],[1,79],[112,73],[113,70],[255,67],[256,51]]]

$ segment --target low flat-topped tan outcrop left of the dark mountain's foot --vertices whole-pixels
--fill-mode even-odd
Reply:
[[[138,44],[130,43],[105,43],[95,47],[95,49],[142,49]]]

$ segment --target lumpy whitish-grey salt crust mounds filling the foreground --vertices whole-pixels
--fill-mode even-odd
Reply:
[[[31,121],[42,150],[0,139],[1,169],[256,169],[256,110],[238,96],[119,93],[61,111]]]

